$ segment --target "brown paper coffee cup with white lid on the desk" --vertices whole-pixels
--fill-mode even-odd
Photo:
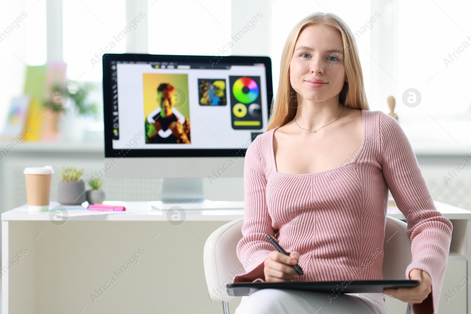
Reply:
[[[23,173],[26,182],[28,212],[48,210],[54,169],[51,166],[27,167]]]

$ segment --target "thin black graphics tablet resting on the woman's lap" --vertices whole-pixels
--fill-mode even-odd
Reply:
[[[260,289],[291,289],[325,293],[382,293],[385,288],[410,288],[420,284],[418,280],[383,279],[332,282],[235,282],[226,285],[227,294],[233,297],[248,296]]]

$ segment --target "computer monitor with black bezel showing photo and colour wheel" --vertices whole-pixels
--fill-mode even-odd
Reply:
[[[104,54],[103,170],[164,178],[163,202],[204,201],[203,179],[243,176],[272,98],[267,56]]]

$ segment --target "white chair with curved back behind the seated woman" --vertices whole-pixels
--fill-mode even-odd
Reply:
[[[204,274],[210,298],[212,301],[222,301],[224,314],[229,314],[227,302],[236,298],[227,294],[226,284],[234,279],[234,270],[244,272],[235,252],[237,243],[242,239],[243,223],[244,218],[239,218],[219,227],[211,233],[204,245]],[[382,264],[384,279],[404,278],[406,268],[412,262],[411,242],[406,234],[406,226],[405,222],[386,216]],[[410,304],[407,304],[406,314],[412,314]]]

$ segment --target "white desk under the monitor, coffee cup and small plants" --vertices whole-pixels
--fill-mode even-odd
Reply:
[[[221,313],[204,278],[204,242],[243,217],[243,209],[186,211],[172,219],[151,202],[122,204],[125,213],[93,215],[67,206],[66,220],[28,214],[25,205],[3,213],[2,266],[11,264],[2,273],[2,313]],[[471,212],[435,204],[454,226],[443,296],[466,276]],[[397,208],[388,215],[405,219]],[[468,294],[464,287],[448,303],[441,298],[439,313],[467,313]],[[239,302],[229,302],[231,313]],[[391,313],[405,313],[399,303],[404,311]]]

